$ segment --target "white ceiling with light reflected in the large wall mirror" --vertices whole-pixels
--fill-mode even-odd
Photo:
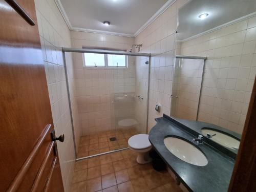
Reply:
[[[255,0],[193,0],[179,9],[178,39],[184,40],[225,26],[227,23],[253,15],[256,12]],[[198,16],[209,15],[201,20]],[[255,15],[255,14],[254,14]]]

